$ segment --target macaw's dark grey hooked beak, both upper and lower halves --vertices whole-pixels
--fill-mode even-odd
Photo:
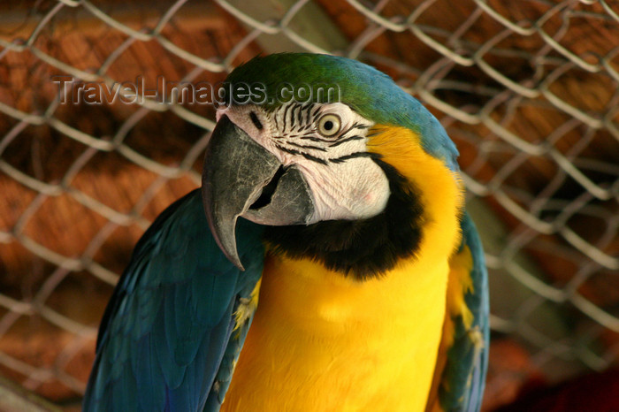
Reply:
[[[213,237],[241,270],[234,233],[239,216],[263,225],[294,225],[307,224],[314,211],[302,173],[284,169],[225,115],[206,148],[202,193]]]

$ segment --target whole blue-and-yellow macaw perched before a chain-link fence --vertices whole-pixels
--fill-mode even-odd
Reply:
[[[84,410],[478,410],[487,275],[439,121],[344,57],[255,57],[225,84],[202,188],[105,310]]]

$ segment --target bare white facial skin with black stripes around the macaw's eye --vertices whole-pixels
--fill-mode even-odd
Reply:
[[[218,109],[217,119],[224,115],[285,167],[302,172],[314,202],[309,223],[367,218],[385,209],[389,182],[367,155],[365,135],[372,122],[348,105],[287,103],[265,111],[247,104]]]

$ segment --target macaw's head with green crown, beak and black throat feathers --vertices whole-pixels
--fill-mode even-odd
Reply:
[[[273,250],[367,278],[414,256],[425,226],[462,209],[454,143],[371,66],[276,54],[237,67],[225,85],[203,204],[239,268],[238,217],[265,225]],[[235,95],[248,90],[253,98]]]

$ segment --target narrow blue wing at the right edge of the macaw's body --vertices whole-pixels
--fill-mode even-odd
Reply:
[[[468,247],[473,260],[470,270],[472,288],[464,294],[464,301],[473,315],[470,327],[462,317],[453,317],[454,343],[447,350],[447,363],[439,386],[439,403],[446,411],[478,411],[485,388],[488,364],[489,303],[488,276],[484,250],[478,231],[467,213],[462,217],[462,246]]]

